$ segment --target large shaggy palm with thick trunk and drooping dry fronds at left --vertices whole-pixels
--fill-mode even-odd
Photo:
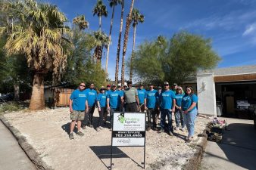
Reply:
[[[5,2],[2,10],[8,11],[14,20],[11,31],[8,26],[0,28],[8,36],[5,50],[8,56],[25,54],[27,57],[34,74],[30,109],[43,109],[45,74],[52,72],[53,82],[58,82],[67,61],[67,51],[63,48],[67,43],[64,36],[69,33],[64,26],[67,17],[55,5],[38,4],[36,0]]]

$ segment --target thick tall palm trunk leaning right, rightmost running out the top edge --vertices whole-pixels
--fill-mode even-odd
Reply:
[[[134,0],[132,0],[131,2],[130,12],[128,17],[126,17],[126,28],[125,28],[124,39],[123,39],[123,57],[122,57],[122,73],[121,73],[122,85],[124,84],[124,62],[125,62],[126,48],[127,48],[127,42],[128,42],[128,36],[129,36],[129,29],[130,29],[130,24],[132,22],[133,4],[134,4]]]

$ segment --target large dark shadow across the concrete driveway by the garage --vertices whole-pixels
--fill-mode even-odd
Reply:
[[[256,130],[252,124],[233,123],[224,131],[222,143],[218,146],[226,154],[229,162],[247,169],[256,167]],[[207,153],[211,156],[220,156]]]

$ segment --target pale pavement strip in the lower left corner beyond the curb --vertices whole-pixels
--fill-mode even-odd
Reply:
[[[0,121],[0,169],[36,170],[16,139]]]

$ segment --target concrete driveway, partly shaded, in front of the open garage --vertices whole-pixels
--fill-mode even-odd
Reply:
[[[223,119],[223,118],[220,118]],[[227,119],[221,144],[208,141],[201,169],[256,169],[256,130],[252,120]]]

